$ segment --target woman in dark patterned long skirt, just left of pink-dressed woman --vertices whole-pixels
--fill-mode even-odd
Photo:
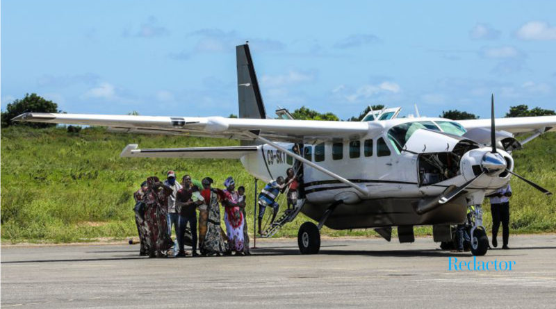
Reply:
[[[204,205],[199,206],[199,251],[204,256],[220,256],[226,252],[224,238],[220,231],[220,204],[217,190],[211,188],[213,180],[206,177],[202,181]],[[220,194],[221,195],[221,194]]]

